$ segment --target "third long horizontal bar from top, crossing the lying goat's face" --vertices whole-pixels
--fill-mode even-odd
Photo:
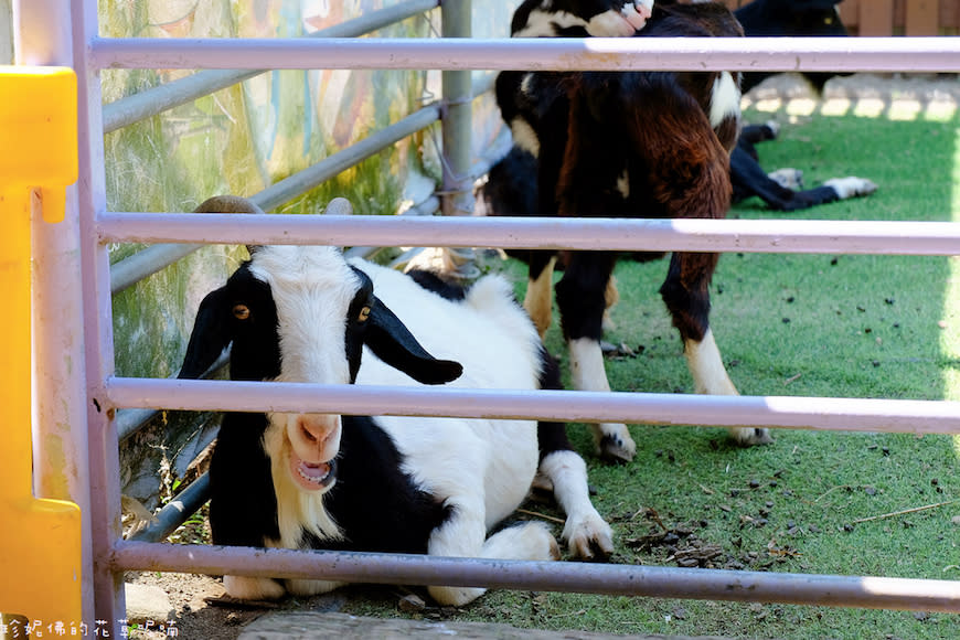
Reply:
[[[960,403],[110,377],[100,405],[960,434]],[[107,402],[105,402],[107,401]]]

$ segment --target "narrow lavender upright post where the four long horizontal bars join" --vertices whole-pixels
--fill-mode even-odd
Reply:
[[[31,0],[33,1],[33,0]],[[110,558],[120,538],[120,462],[115,408],[104,386],[114,374],[113,306],[109,256],[97,237],[97,215],[106,211],[103,98],[100,73],[89,60],[89,43],[98,36],[96,0],[70,2],[74,68],[77,74],[81,277],[89,429],[90,545],[93,548],[95,620],[104,620],[114,638],[125,617],[122,574]]]

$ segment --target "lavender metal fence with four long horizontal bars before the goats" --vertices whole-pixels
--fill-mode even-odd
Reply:
[[[444,38],[404,41],[353,39],[436,1],[409,0],[344,24],[321,38],[288,40],[103,39],[96,0],[20,0],[15,25],[21,64],[60,64],[79,79],[79,181],[68,192],[63,230],[34,224],[35,255],[44,265],[35,277],[38,313],[63,318],[38,328],[36,366],[43,433],[68,438],[64,454],[75,468],[53,469],[43,446],[35,452],[38,491],[66,487],[84,513],[84,615],[106,620],[118,632],[124,618],[122,572],[174,570],[212,574],[323,578],[350,582],[486,585],[504,588],[575,590],[724,600],[764,600],[875,608],[960,611],[960,584],[950,580],[820,576],[681,569],[622,565],[531,563],[478,558],[436,558],[385,554],[338,554],[243,547],[196,547],[121,540],[118,463],[118,409],[310,410],[465,417],[531,417],[614,420],[644,424],[768,425],[785,428],[870,429],[960,434],[960,406],[951,402],[850,398],[678,396],[642,393],[511,393],[445,388],[375,388],[120,378],[114,371],[111,295],[163,268],[203,243],[297,242],[301,244],[416,245],[478,247],[566,247],[690,249],[711,252],[960,254],[960,226],[952,223],[747,222],[747,221],[536,221],[473,217],[244,216],[109,212],[106,207],[104,145],[114,130],[239,82],[249,71],[276,68],[430,68],[467,73],[503,68],[716,68],[771,71],[960,72],[960,39],[856,39],[844,42],[777,40],[463,40],[469,1],[442,3],[449,14]],[[466,18],[465,18],[466,15]],[[460,30],[459,32],[457,30]],[[26,44],[23,44],[26,43]],[[99,73],[105,68],[215,68],[177,86],[151,89],[120,104],[102,105]],[[371,149],[449,117],[452,105],[472,90],[450,75],[444,99],[409,115],[372,140],[331,157],[301,174],[277,183],[254,200],[268,209],[310,189]],[[162,94],[162,96],[161,96]],[[160,96],[160,97],[158,97]],[[451,127],[469,127],[465,109]],[[451,130],[445,149],[456,148]],[[462,142],[462,140],[460,141]],[[364,146],[366,145],[366,146]],[[462,153],[452,164],[460,180],[468,173]],[[458,164],[459,162],[459,164]],[[466,164],[465,164],[466,162]],[[449,184],[444,185],[448,191]],[[450,191],[457,191],[456,186]],[[456,203],[450,206],[456,209]],[[296,238],[291,241],[290,238]],[[469,238],[469,239],[466,239]],[[149,249],[109,266],[109,243],[152,243]],[[136,262],[134,264],[132,262]],[[70,320],[82,318],[81,323]],[[83,363],[79,365],[78,363]],[[477,397],[483,402],[478,403]],[[46,399],[45,399],[46,398]],[[55,401],[53,401],[55,398]],[[470,401],[470,402],[468,402]],[[482,407],[482,408],[480,408]],[[811,408],[815,407],[815,408]],[[641,417],[642,416],[642,417]],[[136,423],[134,420],[132,423]],[[132,423],[124,427],[132,429]],[[52,478],[44,481],[44,478]],[[205,480],[182,501],[190,512],[205,500]],[[185,518],[185,515],[184,515]],[[175,526],[170,519],[164,527]],[[160,540],[154,531],[150,540]]]

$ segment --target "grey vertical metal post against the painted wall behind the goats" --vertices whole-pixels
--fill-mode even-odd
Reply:
[[[442,0],[440,28],[444,38],[470,38],[471,0]],[[444,186],[440,206],[444,215],[473,213],[473,181],[470,179],[472,152],[473,83],[470,71],[445,71],[441,74],[444,113],[442,166]],[[460,278],[477,275],[472,249],[444,249],[444,268]]]

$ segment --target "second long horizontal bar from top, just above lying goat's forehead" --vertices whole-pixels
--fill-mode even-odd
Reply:
[[[960,254],[960,224],[820,220],[640,220],[104,213],[103,242],[472,246],[538,249]]]

